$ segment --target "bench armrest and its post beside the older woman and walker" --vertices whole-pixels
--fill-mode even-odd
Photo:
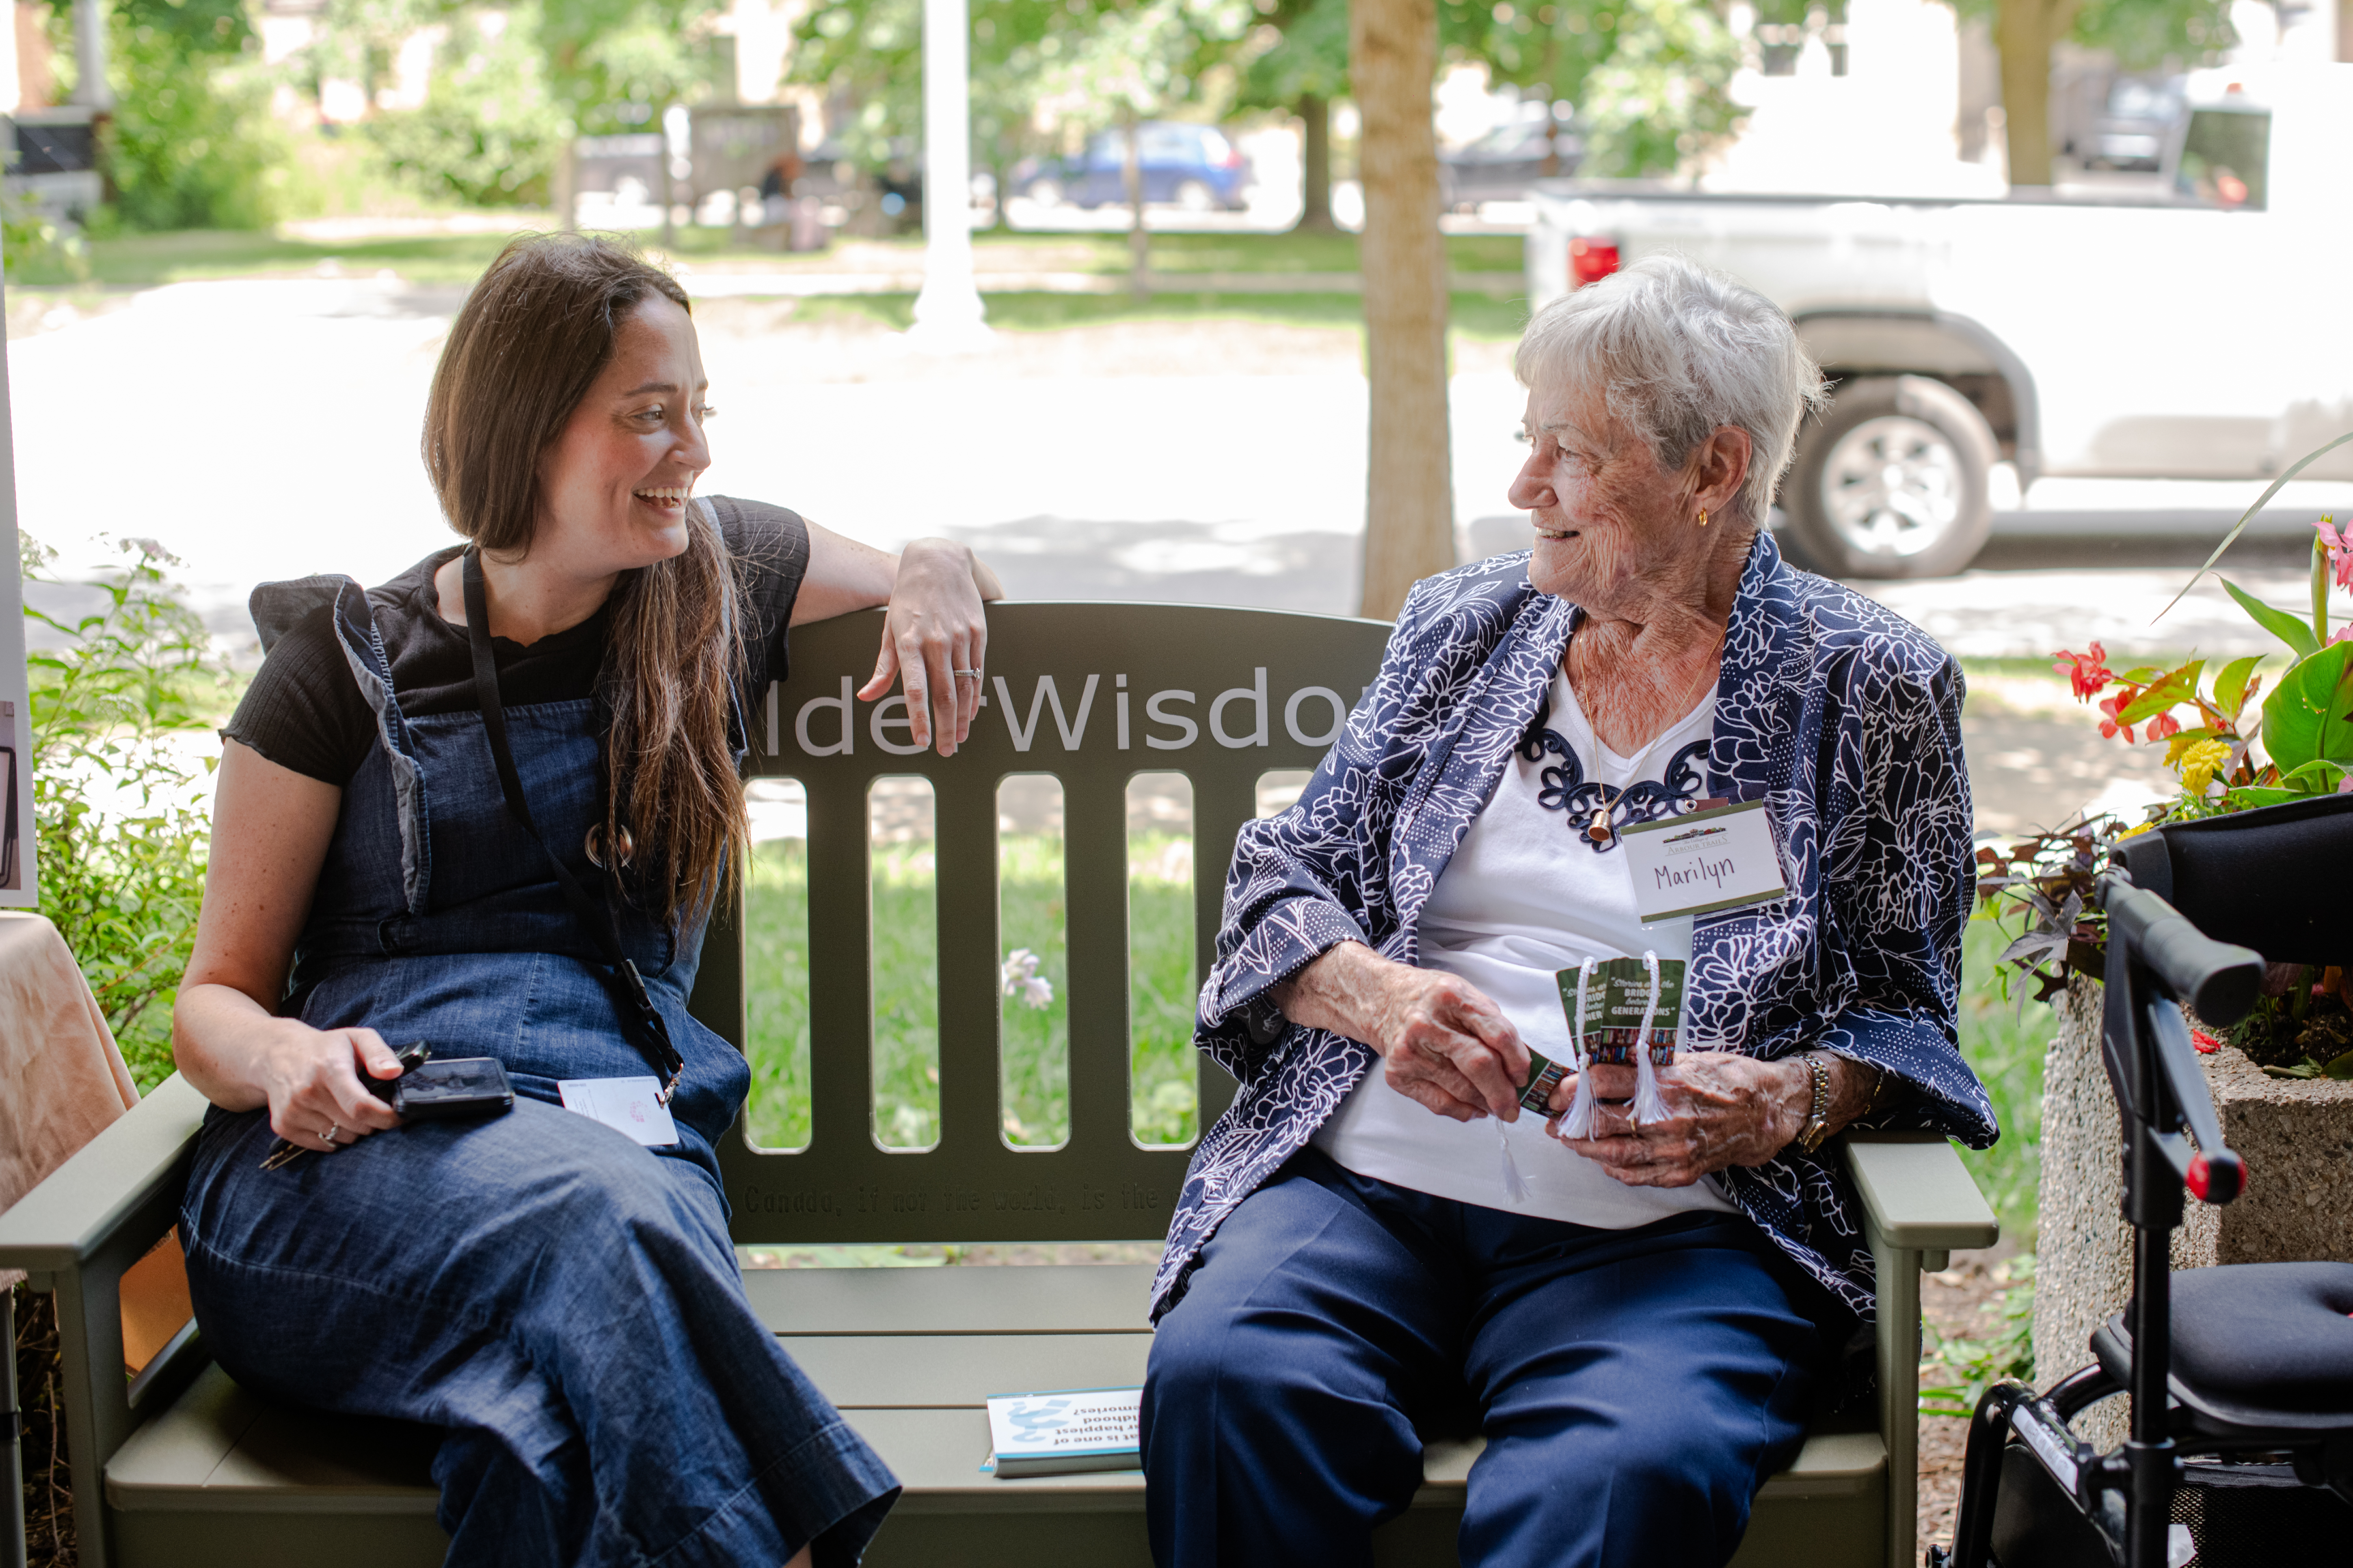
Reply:
[[[2002,1227],[1953,1145],[1937,1133],[1854,1133],[1847,1173],[1864,1199],[1878,1274],[1880,1436],[1887,1441],[1887,1563],[1918,1561],[1920,1269],[1955,1246],[1993,1246]]]

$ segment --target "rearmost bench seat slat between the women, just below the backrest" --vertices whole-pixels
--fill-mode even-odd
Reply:
[[[1148,1262],[744,1274],[760,1321],[791,1335],[1136,1333],[1151,1284]]]

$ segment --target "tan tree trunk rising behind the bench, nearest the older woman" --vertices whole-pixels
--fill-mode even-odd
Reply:
[[[1454,564],[1447,449],[1447,252],[1438,233],[1435,0],[1355,0],[1348,73],[1365,118],[1365,369],[1372,430],[1362,614],[1388,621],[1405,590]]]

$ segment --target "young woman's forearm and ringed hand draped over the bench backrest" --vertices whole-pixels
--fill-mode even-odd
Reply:
[[[918,538],[899,555],[809,524],[809,569],[793,599],[793,625],[831,621],[854,609],[889,604],[875,672],[859,689],[871,703],[894,677],[906,677],[908,738],[953,757],[981,712],[981,670],[988,654],[984,599],[1002,599],[998,574],[972,550],[946,538]],[[929,701],[925,701],[929,696]]]

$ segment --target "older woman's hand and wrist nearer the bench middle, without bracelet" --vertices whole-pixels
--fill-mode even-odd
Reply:
[[[1341,943],[1278,985],[1273,999],[1292,1023],[1379,1051],[1388,1086],[1440,1117],[1520,1117],[1527,1046],[1504,1009],[1459,976]]]

